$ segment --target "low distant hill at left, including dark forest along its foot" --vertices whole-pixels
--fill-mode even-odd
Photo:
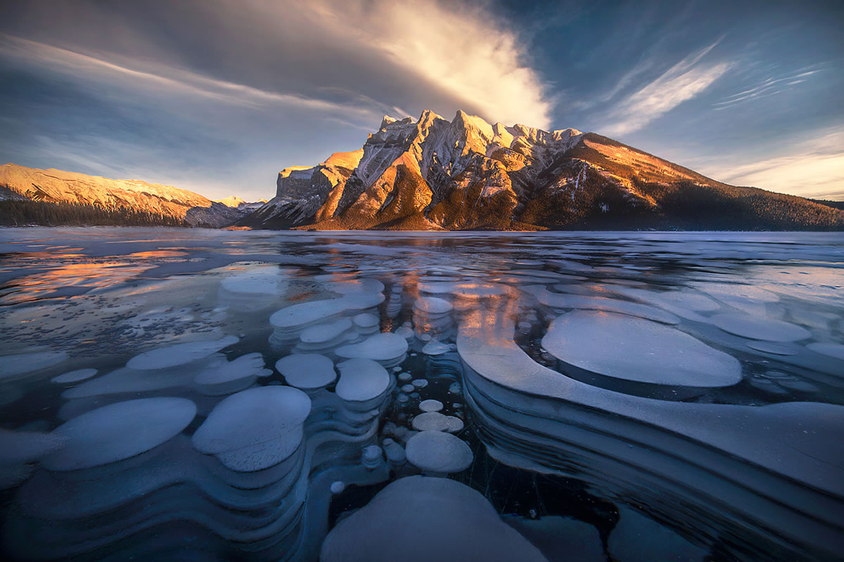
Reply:
[[[254,209],[254,204],[243,200],[232,207],[172,185],[138,179],[108,179],[12,163],[0,166],[0,224],[225,227]]]

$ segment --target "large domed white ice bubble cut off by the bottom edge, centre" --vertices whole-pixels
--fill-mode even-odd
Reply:
[[[451,479],[410,476],[381,490],[328,534],[322,562],[547,562],[501,522],[479,492]]]

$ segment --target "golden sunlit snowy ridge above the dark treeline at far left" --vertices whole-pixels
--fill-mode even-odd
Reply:
[[[235,199],[237,204],[230,206],[228,203]],[[184,222],[189,226],[211,227],[230,225],[257,208],[240,198],[211,201],[172,185],[148,184],[138,179],[108,179],[58,169],[25,168],[12,163],[0,166],[0,200],[92,207],[106,215],[131,211],[143,215],[149,223]],[[35,207],[35,214],[38,212]]]

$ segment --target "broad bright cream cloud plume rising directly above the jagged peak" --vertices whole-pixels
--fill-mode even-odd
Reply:
[[[441,90],[457,108],[489,120],[550,124],[551,102],[524,64],[517,34],[484,9],[419,2],[312,3],[327,35],[375,50],[419,87]]]

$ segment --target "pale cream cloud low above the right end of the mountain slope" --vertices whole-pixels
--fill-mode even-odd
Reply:
[[[844,126],[818,131],[787,154],[737,165],[703,164],[700,169],[728,184],[844,200]]]

